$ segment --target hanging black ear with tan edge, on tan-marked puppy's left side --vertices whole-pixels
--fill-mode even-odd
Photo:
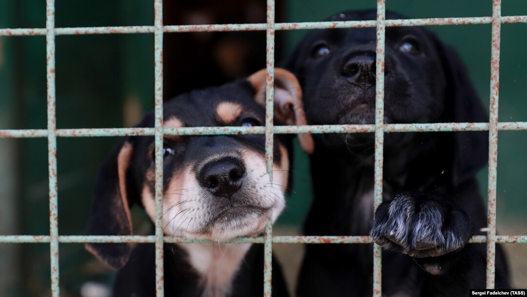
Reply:
[[[133,155],[129,139],[120,141],[104,159],[97,173],[95,196],[87,235],[132,235],[126,171]],[[130,243],[86,243],[90,251],[113,269],[120,269],[130,257]]]

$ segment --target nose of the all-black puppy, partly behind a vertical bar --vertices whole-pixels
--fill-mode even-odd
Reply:
[[[349,82],[370,87],[375,85],[375,56],[353,56],[343,65],[341,74]]]

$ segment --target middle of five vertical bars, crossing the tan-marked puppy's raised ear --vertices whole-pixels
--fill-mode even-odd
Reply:
[[[275,85],[275,0],[267,0],[266,28],[266,118],[265,118],[265,155],[267,171],[272,183],[273,162],[273,118],[274,118],[274,85]],[[272,209],[269,211],[264,233],[264,296],[270,297],[272,291]]]

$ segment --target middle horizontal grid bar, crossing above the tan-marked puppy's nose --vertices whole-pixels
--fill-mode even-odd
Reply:
[[[93,128],[57,129],[57,137],[110,137],[110,136],[153,136],[154,128]],[[385,132],[447,132],[447,131],[488,131],[489,123],[418,123],[384,124]],[[498,130],[527,130],[527,122],[500,122]],[[374,124],[337,124],[306,126],[275,126],[275,134],[294,133],[365,133],[375,132]],[[183,127],[164,128],[164,135],[233,135],[264,134],[265,127]],[[0,130],[0,138],[47,137],[46,129]]]

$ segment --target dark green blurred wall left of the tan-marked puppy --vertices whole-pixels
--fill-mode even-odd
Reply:
[[[153,5],[57,0],[55,16],[56,27],[148,25]],[[0,0],[0,27],[45,27],[45,2]],[[45,36],[0,43],[0,129],[46,129]],[[153,77],[152,34],[56,36],[57,128],[130,126],[153,108]],[[57,139],[60,235],[84,234],[95,173],[115,140]],[[0,232],[48,235],[47,140],[0,139],[0,150]],[[0,273],[0,296],[50,291],[48,244],[0,244],[0,269],[11,271]],[[111,274],[83,244],[61,244],[60,277],[61,295],[78,296],[85,281]]]

